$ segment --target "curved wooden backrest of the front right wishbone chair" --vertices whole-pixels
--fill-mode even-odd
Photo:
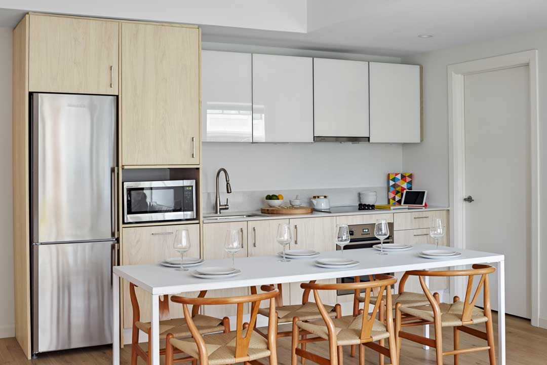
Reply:
[[[423,279],[424,276],[441,276],[441,277],[451,277],[451,276],[468,276],[467,279],[467,290],[465,291],[465,299],[463,301],[463,314],[462,322],[464,325],[471,323],[471,316],[473,313],[473,308],[475,307],[476,300],[479,298],[479,293],[481,288],[483,289],[484,297],[484,309],[485,311],[490,311],[490,284],[488,283],[488,274],[492,274],[496,271],[496,268],[493,268],[490,265],[475,264],[473,269],[465,270],[439,270],[439,271],[429,271],[429,270],[412,270],[407,271],[405,275],[418,276],[420,279],[420,284],[422,286],[423,292],[426,294],[429,303],[433,307],[435,316],[440,315],[440,307],[438,300],[435,299],[434,295],[429,291],[429,288],[426,285],[426,281]],[[475,276],[480,275],[479,283],[473,292],[473,282]],[[455,301],[459,299],[455,297]],[[467,323],[466,323],[467,322]]]

